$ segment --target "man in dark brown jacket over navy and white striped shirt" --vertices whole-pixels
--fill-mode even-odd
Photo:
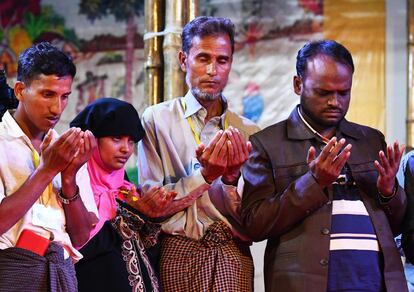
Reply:
[[[344,118],[354,65],[341,44],[306,44],[296,70],[300,104],[250,137],[243,170],[243,223],[268,239],[266,291],[406,291],[394,243],[404,146]]]

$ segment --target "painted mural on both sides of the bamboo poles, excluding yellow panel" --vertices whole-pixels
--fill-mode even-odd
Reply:
[[[238,112],[262,126],[287,115],[294,57],[304,41],[320,37],[320,1],[201,1],[204,15],[228,16],[237,27],[236,55],[225,94]],[[31,44],[49,41],[68,52],[78,73],[67,110],[67,127],[86,104],[119,97],[142,112],[143,1],[14,0],[0,3],[0,61],[9,84],[18,55]]]

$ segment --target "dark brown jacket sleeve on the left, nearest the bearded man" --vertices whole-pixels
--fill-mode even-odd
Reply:
[[[243,168],[244,190],[242,220],[255,241],[279,237],[313,211],[328,202],[328,197],[308,171],[277,191],[275,169],[256,136],[249,160]]]

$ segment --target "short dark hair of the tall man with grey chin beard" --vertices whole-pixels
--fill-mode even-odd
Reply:
[[[187,23],[181,35],[182,50],[188,54],[194,37],[227,34],[231,42],[231,52],[234,53],[234,24],[228,18],[199,16]]]

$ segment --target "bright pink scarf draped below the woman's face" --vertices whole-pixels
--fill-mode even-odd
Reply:
[[[131,183],[124,180],[125,169],[108,171],[101,159],[99,148],[96,147],[92,157],[88,161],[88,172],[91,180],[91,187],[98,207],[99,222],[91,231],[89,239],[101,230],[104,223],[116,216],[116,201],[120,187],[131,187]]]

